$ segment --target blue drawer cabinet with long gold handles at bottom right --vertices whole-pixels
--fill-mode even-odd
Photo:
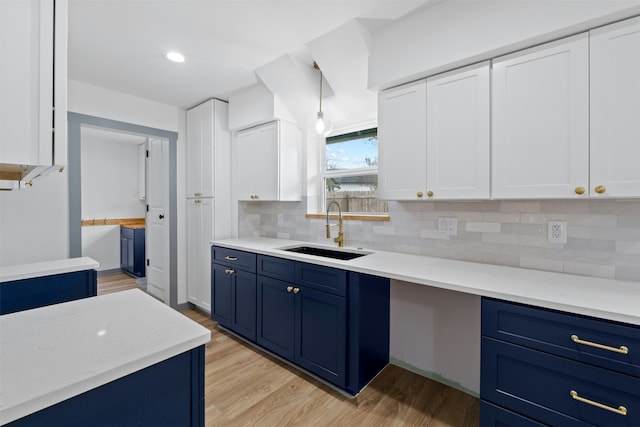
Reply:
[[[483,298],[482,425],[640,425],[638,350],[638,326]]]

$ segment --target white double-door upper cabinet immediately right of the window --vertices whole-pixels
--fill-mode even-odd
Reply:
[[[489,83],[483,63],[380,95],[381,199],[489,198]]]

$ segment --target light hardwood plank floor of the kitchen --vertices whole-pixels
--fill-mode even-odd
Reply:
[[[98,294],[136,288],[125,274],[98,277]],[[217,328],[207,314],[183,314],[211,330],[205,350],[206,426],[479,425],[479,401],[451,387],[387,366],[356,398]]]

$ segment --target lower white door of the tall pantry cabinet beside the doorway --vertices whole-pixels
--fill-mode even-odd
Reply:
[[[187,299],[211,312],[211,247],[214,200],[187,199]]]

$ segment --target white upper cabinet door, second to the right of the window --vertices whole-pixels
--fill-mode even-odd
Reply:
[[[489,63],[427,79],[427,197],[488,199]]]

